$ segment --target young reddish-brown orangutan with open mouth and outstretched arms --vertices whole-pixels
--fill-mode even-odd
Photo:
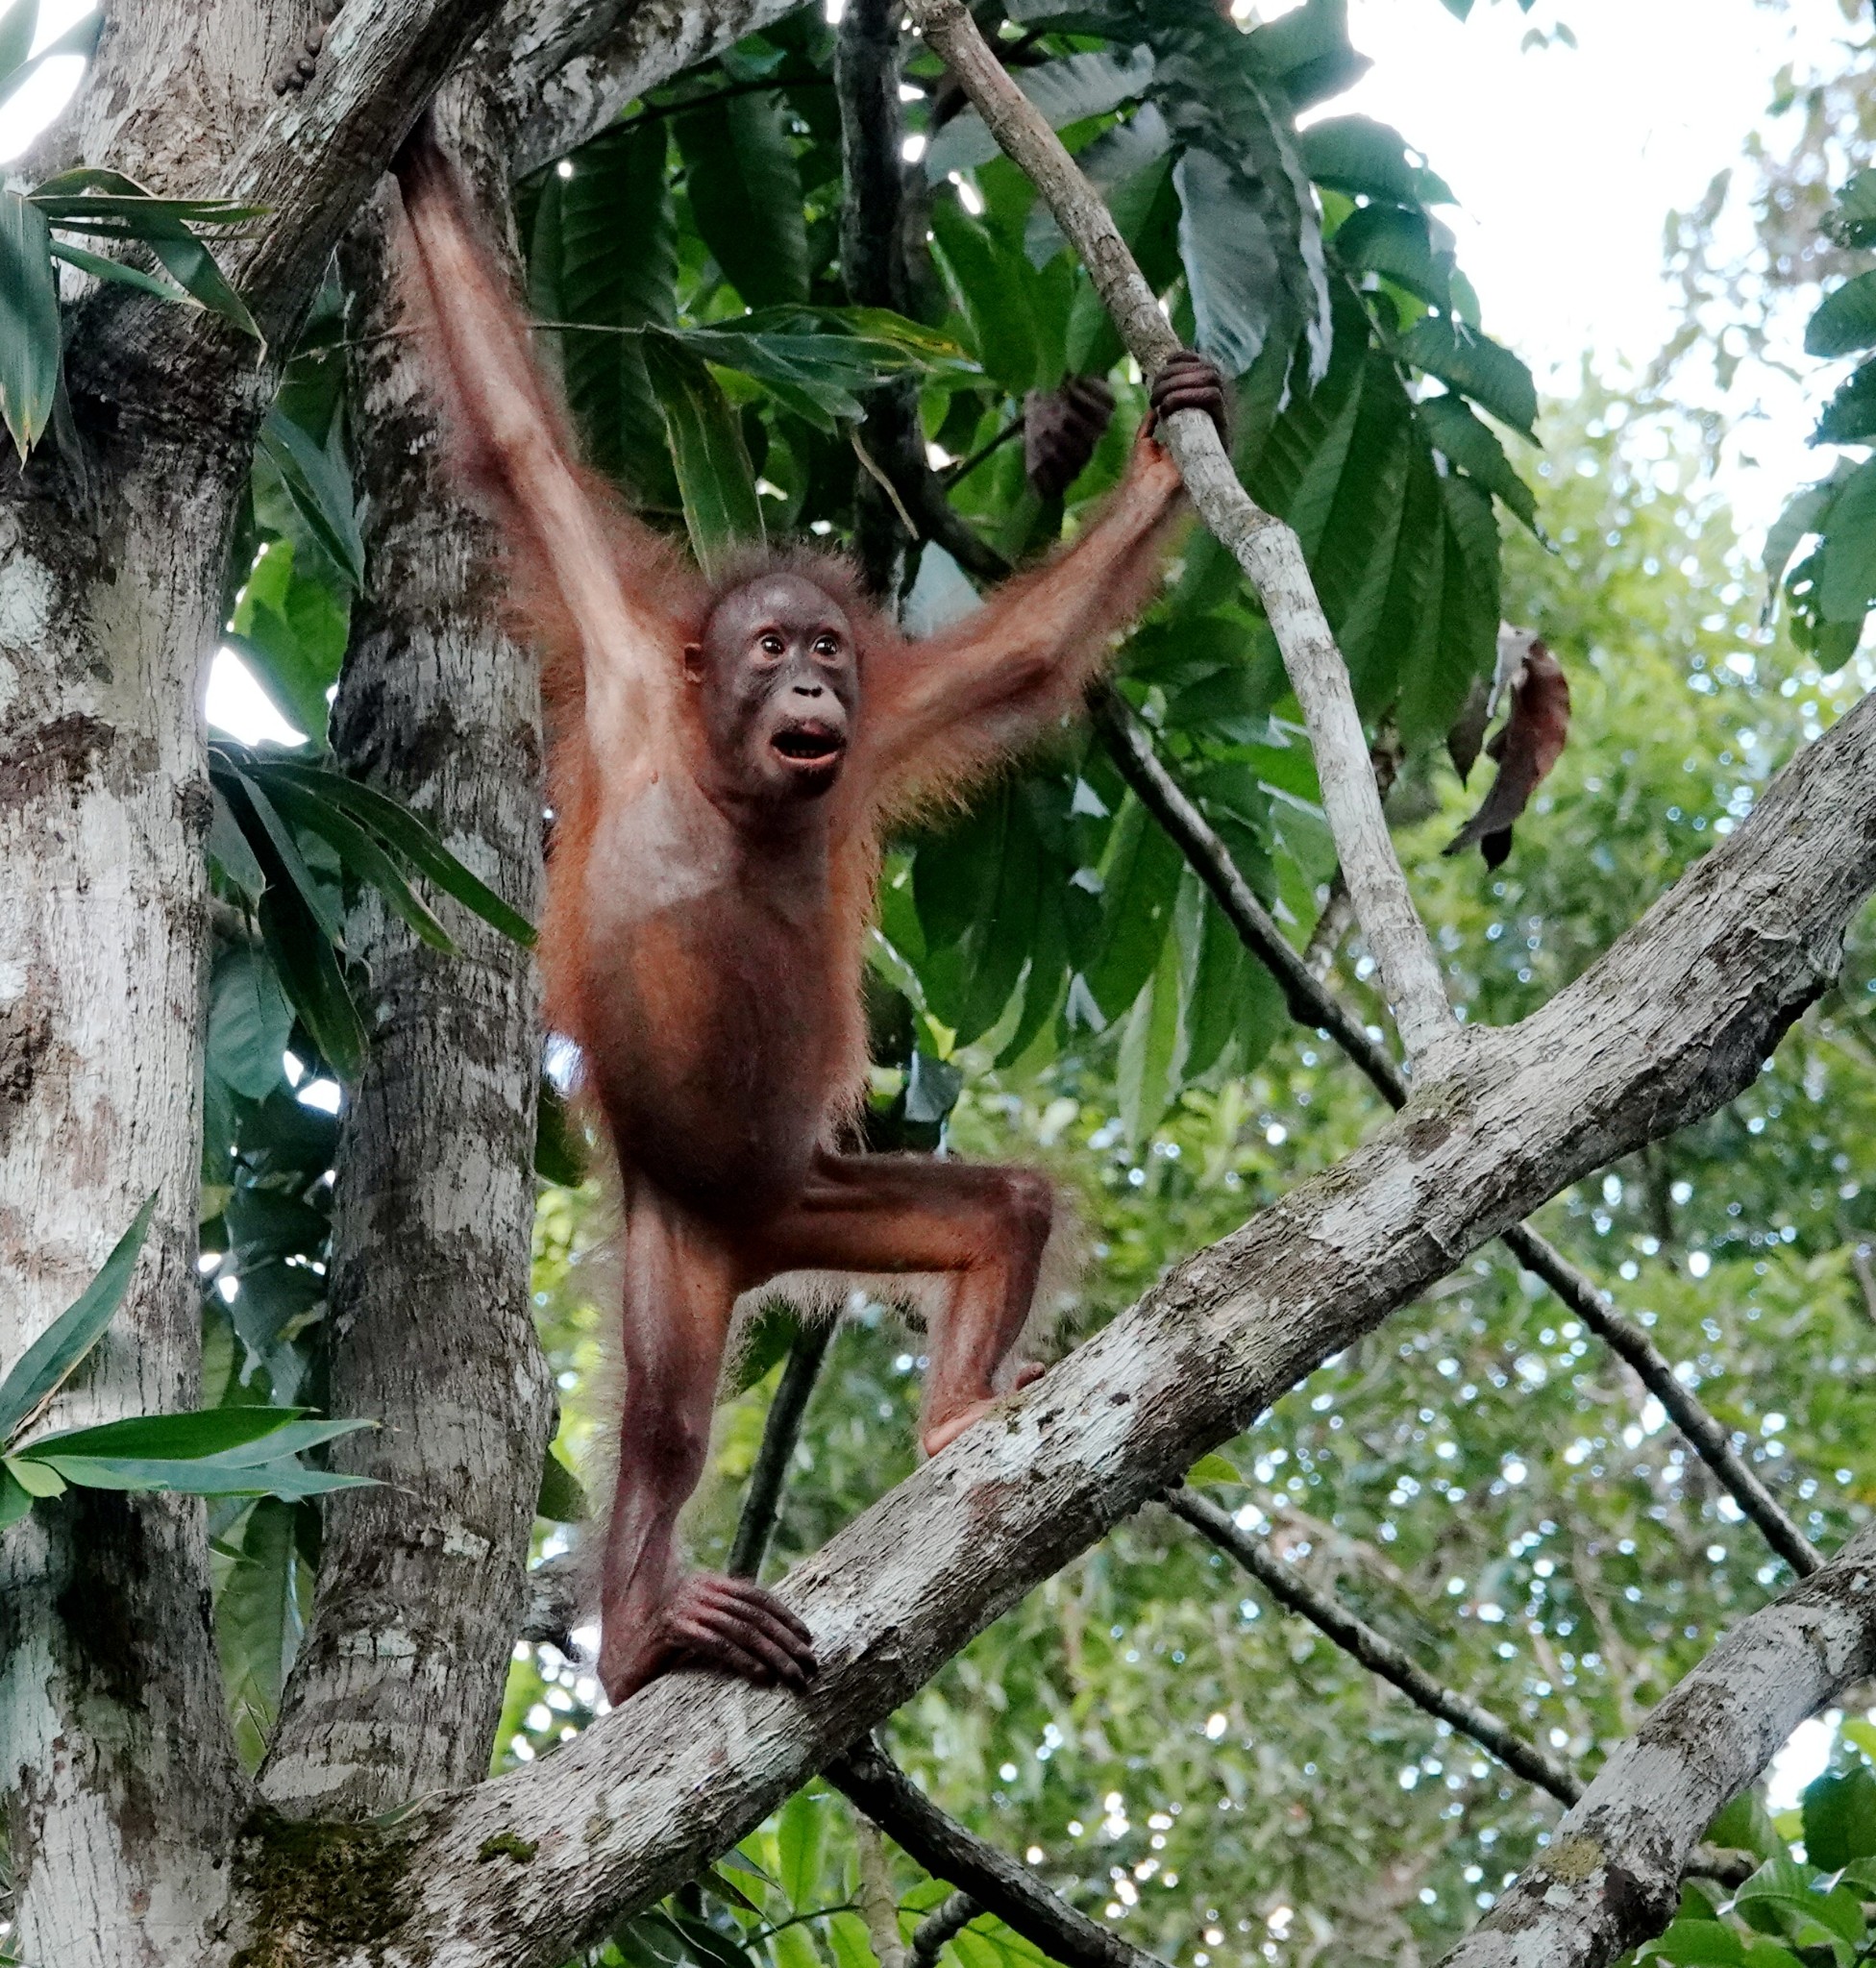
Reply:
[[[711,1661],[801,1687],[801,1622],[754,1582],[687,1574],[675,1551],[734,1305],[789,1271],[935,1279],[931,1454],[1039,1372],[1008,1356],[1055,1216],[1047,1179],[835,1147],[866,1084],[862,939],[886,825],[1079,703],[1157,581],[1179,474],[1150,417],[1075,545],[927,642],[829,555],[758,553],[707,584],[573,462],[427,136],[398,177],[461,466],[545,665],[547,1015],[577,1041],[618,1155],[626,1391],[600,1679],[624,1700]],[[1193,354],[1152,401],[1222,423],[1219,376]]]

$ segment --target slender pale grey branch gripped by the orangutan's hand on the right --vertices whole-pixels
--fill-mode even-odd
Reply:
[[[1177,352],[1179,338],[1100,197],[1041,112],[1004,73],[963,0],[911,0],[911,18],[965,85],[996,142],[1035,183],[1093,276],[1122,342],[1142,370],[1154,374]],[[1465,1057],[1469,1035],[1453,1021],[1439,960],[1394,854],[1348,669],[1303,549],[1287,525],[1252,504],[1211,417],[1181,411],[1169,419],[1165,441],[1201,518],[1264,600],[1309,724],[1323,811],[1407,1057],[1425,1057],[1433,1073],[1451,1071]]]

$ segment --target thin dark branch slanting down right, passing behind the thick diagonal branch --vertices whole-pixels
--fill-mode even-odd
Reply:
[[[1207,825],[1205,815],[1185,795],[1177,779],[1156,756],[1140,720],[1112,687],[1091,697],[1094,722],[1140,803],[1177,842],[1193,872],[1205,882],[1244,947],[1278,980],[1289,1015],[1301,1025],[1327,1033],[1368,1076],[1376,1092],[1394,1108],[1407,1100],[1407,1082],[1388,1053],[1368,1035],[1356,1015],[1323,984],[1305,958],[1289,947],[1276,919],[1252,893],[1230,848]],[[1648,1334],[1624,1319],[1595,1281],[1563,1252],[1537,1236],[1530,1224],[1500,1232],[1512,1256],[1557,1293],[1557,1297],[1612,1352],[1634,1368],[1642,1385],[1667,1409],[1695,1454],[1713,1470],[1738,1507],[1758,1525],[1772,1549],[1799,1574],[1817,1570],[1817,1547],[1791,1521],[1778,1498],[1740,1456],[1726,1429],[1675,1380]]]

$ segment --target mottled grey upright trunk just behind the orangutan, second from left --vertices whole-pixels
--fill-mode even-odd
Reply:
[[[482,102],[439,118],[508,224]],[[341,764],[406,799],[533,911],[539,687],[496,628],[490,529],[455,498],[398,319],[396,191],[343,250],[352,431],[370,590],[333,716]],[[376,337],[376,338],[374,338]],[[264,1787],[305,1814],[364,1814],[486,1773],[553,1387],[528,1295],[539,1012],[533,960],[447,901],[463,954],[425,949],[372,892],[350,945],[372,974],[372,1055],[348,1100],[333,1208],[331,1405],[370,1415],[337,1458],[382,1488],[327,1507],[319,1598]]]

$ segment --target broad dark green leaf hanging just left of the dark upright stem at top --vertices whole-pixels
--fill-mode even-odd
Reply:
[[[691,216],[750,307],[807,299],[801,173],[780,94],[724,96],[677,116]]]

